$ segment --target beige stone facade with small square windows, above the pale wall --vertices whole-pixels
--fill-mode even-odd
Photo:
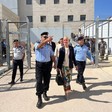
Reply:
[[[94,20],[94,0],[33,0],[34,28],[83,20]]]

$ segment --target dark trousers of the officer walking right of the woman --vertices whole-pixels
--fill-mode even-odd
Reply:
[[[76,61],[76,63],[77,63],[77,66],[78,66],[77,81],[82,84],[82,83],[85,82],[83,73],[84,73],[84,70],[85,70],[86,62],[85,61]]]

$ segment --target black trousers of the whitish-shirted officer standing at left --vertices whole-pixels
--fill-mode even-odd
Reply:
[[[18,66],[20,71],[20,78],[23,79],[23,60],[13,60],[12,82],[15,81]]]

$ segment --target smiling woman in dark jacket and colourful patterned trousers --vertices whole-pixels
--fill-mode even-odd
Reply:
[[[63,38],[63,47],[60,48],[59,51],[59,59],[57,65],[57,71],[62,73],[62,77],[64,79],[64,91],[66,99],[68,99],[68,94],[71,92],[71,76],[72,76],[72,68],[73,63],[76,66],[75,56],[73,47],[69,45],[68,37]]]

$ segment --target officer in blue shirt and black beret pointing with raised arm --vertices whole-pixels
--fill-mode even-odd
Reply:
[[[46,101],[49,100],[47,91],[50,83],[51,58],[55,63],[52,47],[48,44],[51,40],[52,37],[48,37],[48,32],[43,32],[40,42],[36,42],[34,45],[36,54],[36,95],[38,96],[36,106],[38,108],[42,107],[42,94]]]

